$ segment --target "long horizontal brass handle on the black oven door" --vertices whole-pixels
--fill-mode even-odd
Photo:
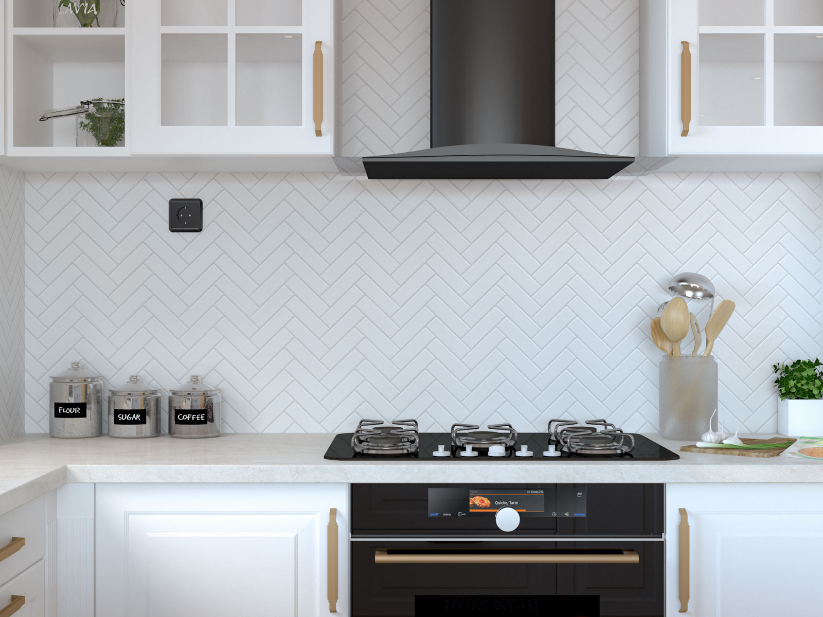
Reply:
[[[374,551],[375,564],[639,564],[640,557],[634,550],[622,550],[621,554],[391,554],[386,549]]]

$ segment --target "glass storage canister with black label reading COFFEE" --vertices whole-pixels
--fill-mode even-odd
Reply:
[[[217,437],[221,428],[219,388],[207,386],[197,375],[169,391],[169,434],[172,437]]]

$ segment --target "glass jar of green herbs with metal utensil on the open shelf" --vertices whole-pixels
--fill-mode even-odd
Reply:
[[[40,122],[74,116],[78,148],[123,147],[126,135],[125,99],[81,100],[79,105],[46,109]]]

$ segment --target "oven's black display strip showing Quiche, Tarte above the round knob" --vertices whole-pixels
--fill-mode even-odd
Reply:
[[[558,485],[550,494],[542,489],[429,489],[430,517],[482,517],[502,508],[527,517],[585,517],[586,489]]]

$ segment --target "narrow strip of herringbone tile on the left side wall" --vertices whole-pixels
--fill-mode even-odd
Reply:
[[[23,431],[23,174],[0,165],[0,441]]]

